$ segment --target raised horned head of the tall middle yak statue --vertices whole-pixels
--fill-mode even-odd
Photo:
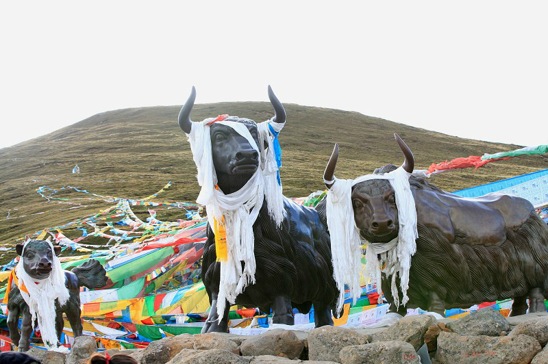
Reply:
[[[192,121],[190,120],[190,111],[196,99],[196,89],[192,87],[192,92],[188,100],[179,112],[179,126],[185,133],[190,133]],[[279,102],[276,95],[269,86],[269,99],[274,107],[274,122],[283,124],[286,121],[286,111],[284,105]],[[259,145],[259,135],[257,123],[247,118],[238,118],[229,116],[224,121],[240,122],[247,127],[249,133]],[[213,165],[219,188],[225,193],[230,194],[239,190],[259,168],[259,153],[242,135],[236,133],[231,127],[226,125],[212,123],[210,126],[211,152]]]

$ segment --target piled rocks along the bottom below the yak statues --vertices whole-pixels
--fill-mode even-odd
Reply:
[[[383,329],[324,326],[310,333],[185,334],[124,352],[142,364],[548,364],[547,342],[548,313],[505,318],[482,309],[459,320],[403,317]],[[68,355],[37,349],[29,354],[44,364],[84,364],[96,351],[94,339],[79,337]]]

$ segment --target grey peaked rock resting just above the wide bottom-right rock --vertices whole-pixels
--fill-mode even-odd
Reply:
[[[453,322],[448,322],[447,328],[460,335],[499,336],[501,331],[510,331],[510,324],[499,311],[488,307],[471,312]]]

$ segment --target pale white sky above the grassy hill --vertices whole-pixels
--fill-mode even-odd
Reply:
[[[268,101],[268,84],[285,103],[548,144],[547,10],[546,1],[3,1],[0,148],[107,110],[179,105],[192,85],[197,103],[211,103]]]

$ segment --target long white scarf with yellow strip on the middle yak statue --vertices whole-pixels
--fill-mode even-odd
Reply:
[[[193,122],[190,134],[187,134],[195,164],[198,168],[198,183],[201,186],[196,200],[200,205],[206,205],[208,221],[216,235],[216,249],[225,253],[221,263],[221,282],[217,298],[219,321],[223,319],[225,300],[234,304],[236,297],[249,284],[255,283],[255,254],[253,223],[257,220],[264,198],[267,201],[269,215],[277,226],[282,224],[285,216],[282,185],[278,180],[278,165],[273,143],[275,136],[285,124],[272,120],[257,125],[259,144],[257,145],[249,129],[240,122],[223,121],[227,116],[208,118],[203,122]],[[259,168],[251,179],[238,191],[224,194],[216,189],[217,176],[213,165],[210,125],[212,122],[231,127],[236,133],[249,141],[253,149],[260,154]],[[273,133],[271,133],[271,128]],[[264,148],[264,142],[268,148]],[[225,238],[225,239],[224,239]],[[219,239],[225,240],[223,246],[218,246]],[[219,242],[220,243],[220,242]],[[241,261],[245,263],[242,270]]]

